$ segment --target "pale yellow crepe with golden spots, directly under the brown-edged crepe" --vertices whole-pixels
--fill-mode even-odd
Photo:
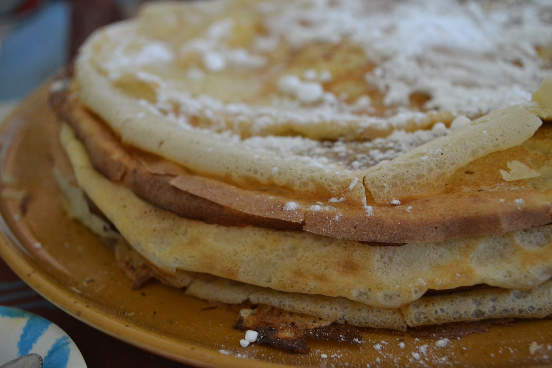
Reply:
[[[87,195],[133,248],[167,273],[209,273],[380,308],[400,307],[428,289],[475,284],[531,289],[550,278],[552,226],[374,247],[306,232],[206,224],[158,209],[103,178],[67,126],[62,142]]]

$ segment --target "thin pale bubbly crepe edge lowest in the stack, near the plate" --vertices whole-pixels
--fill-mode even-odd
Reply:
[[[58,157],[58,167],[65,164]],[[66,170],[66,175],[67,175]],[[56,175],[62,196],[68,202],[71,213],[81,214],[77,219],[92,230],[102,222],[88,209],[86,202],[75,193],[80,189],[70,180]],[[71,187],[71,188],[70,188]],[[81,193],[82,195],[82,193]],[[107,223],[103,223],[108,228]],[[108,236],[103,233],[100,236]],[[118,238],[116,257],[134,258],[134,265],[147,262],[122,238]],[[137,259],[140,258],[140,259]],[[123,260],[123,262],[126,262]],[[131,261],[131,265],[132,265]],[[155,269],[155,266],[152,266]],[[237,304],[250,301],[282,308],[293,313],[322,318],[325,326],[330,322],[347,323],[352,326],[406,330],[407,327],[427,326],[447,322],[480,321],[489,318],[543,318],[552,313],[552,281],[545,281],[530,291],[485,288],[450,295],[423,296],[399,309],[375,308],[351,301],[344,297],[283,292],[240,281],[205,276],[198,278],[192,273],[177,270],[174,273],[155,272],[155,277],[173,287],[185,287],[185,293],[211,302]],[[243,313],[251,313],[244,310]],[[293,317],[292,317],[293,318]]]

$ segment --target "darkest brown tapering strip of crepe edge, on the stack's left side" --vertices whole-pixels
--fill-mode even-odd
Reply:
[[[95,169],[130,188],[139,198],[175,214],[224,226],[258,226],[277,230],[301,230],[301,223],[246,214],[180,190],[169,184],[172,175],[152,174],[144,162],[161,161],[153,155],[120,145],[103,123],[79,109],[66,92],[52,93],[51,105],[84,143]],[[135,157],[140,157],[140,160]],[[165,166],[171,165],[166,162]]]

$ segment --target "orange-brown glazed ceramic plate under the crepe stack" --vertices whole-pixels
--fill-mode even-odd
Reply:
[[[241,348],[243,332],[232,328],[233,311],[208,308],[159,282],[132,291],[112,250],[63,214],[43,127],[54,119],[46,95],[43,89],[26,100],[0,133],[0,255],[20,278],[75,318],[197,366],[518,367],[552,361],[550,319],[493,326],[440,343],[366,331],[362,344],[312,340],[310,353],[291,354],[259,344]]]

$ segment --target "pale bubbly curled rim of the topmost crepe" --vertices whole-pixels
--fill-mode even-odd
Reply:
[[[229,15],[230,18],[237,16],[240,19],[240,14],[246,18],[253,17],[245,4],[232,2],[230,5],[235,7],[232,15]],[[158,19],[161,21],[164,18],[160,15]],[[227,180],[246,188],[291,190],[298,196],[315,201],[343,196],[349,203],[360,207],[364,205],[365,200],[371,205],[372,201],[376,204],[389,204],[392,200],[404,202],[424,198],[443,193],[454,173],[476,159],[521,145],[537,131],[542,119],[548,119],[552,115],[552,97],[548,93],[552,79],[548,78],[537,92],[537,95],[543,98],[481,116],[453,134],[440,137],[391,161],[381,162],[368,169],[348,169],[342,164],[334,163],[312,164],[296,157],[286,158],[260,151],[256,153],[243,146],[241,141],[235,142],[224,134],[219,135],[216,129],[209,130],[209,124],[206,129],[195,129],[193,125],[182,127],[178,121],[174,121],[174,111],[182,107],[188,112],[198,101],[194,99],[194,93],[190,93],[191,87],[187,87],[191,83],[178,79],[185,74],[179,69],[178,57],[167,56],[163,63],[163,71],[146,68],[144,65],[147,65],[147,62],[143,62],[144,65],[140,62],[132,63],[133,60],[140,60],[135,55],[136,50],[148,50],[147,47],[151,45],[157,45],[157,49],[161,45],[178,45],[178,42],[174,42],[174,45],[171,42],[163,43],[163,37],[174,35],[163,36],[159,32],[151,32],[150,28],[141,28],[141,20],[139,18],[99,30],[81,48],[76,62],[76,79],[82,102],[101,116],[110,128],[121,136],[123,142],[177,162],[198,175]],[[201,33],[201,29],[195,31]],[[343,52],[346,44],[347,42],[341,42],[335,52]],[[327,47],[330,50],[335,49],[333,45]],[[168,49],[166,52],[169,52]],[[290,50],[287,50],[287,54],[286,50],[282,52],[284,60],[285,57],[289,57],[288,54],[292,54]],[[121,64],[127,67],[124,75],[109,74],[107,66],[120,62],[119,58],[126,60],[126,63]],[[364,63],[371,65],[367,59]],[[235,79],[239,76],[247,78],[244,79],[247,82],[243,84],[247,86],[249,83],[253,86],[259,84],[263,77],[272,76],[268,70],[267,67],[261,71],[241,74],[219,73],[212,78],[214,86],[211,88],[211,94],[216,95],[215,91],[219,91],[218,93],[231,96],[236,90],[238,101],[243,101],[247,105],[248,99],[238,94],[237,87],[229,88],[222,81],[225,77]],[[246,95],[256,95],[254,88],[250,89],[250,93]],[[264,90],[263,93],[257,92],[263,96],[266,93]],[[269,97],[264,96],[266,99]],[[216,105],[216,101],[215,99],[212,104]],[[254,98],[253,101],[258,102]],[[166,103],[171,107],[167,108],[167,111],[161,111],[155,107],[155,103]],[[207,110],[211,111],[211,114],[205,113],[206,115],[199,120],[221,121],[224,124],[237,119],[235,114],[218,116],[212,109]],[[284,118],[280,116],[280,119],[285,120],[285,115]],[[417,126],[418,129],[429,126],[427,121],[418,120],[423,121]],[[433,123],[439,121],[429,120]],[[214,124],[213,121],[211,123]],[[243,125],[247,125],[247,122],[243,122]],[[338,121],[327,122],[324,125],[330,128],[341,126]],[[351,127],[346,128],[358,130],[355,122],[350,122],[349,125]],[[292,124],[284,131],[294,131],[293,127]],[[369,126],[367,129],[370,128],[377,130],[376,126]],[[345,136],[347,129],[337,129],[337,133],[334,132],[330,138]],[[366,138],[363,136],[363,139]],[[183,146],[186,147],[185,150],[182,150]],[[505,164],[498,162],[497,166]],[[497,171],[500,168],[494,169]],[[550,189],[549,184],[546,189]]]

